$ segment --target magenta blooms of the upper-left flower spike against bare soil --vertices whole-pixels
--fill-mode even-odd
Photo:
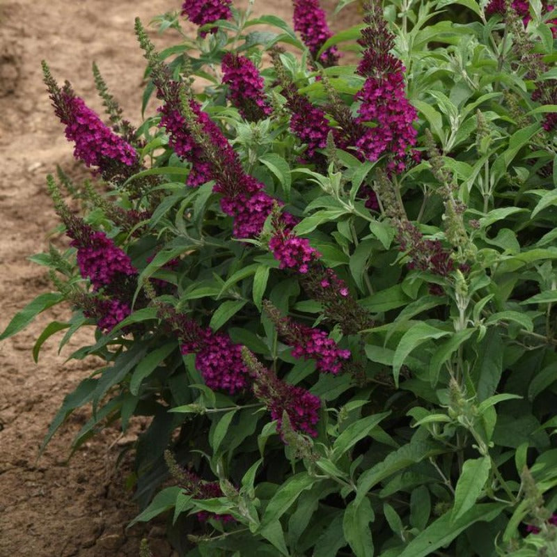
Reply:
[[[54,99],[53,99],[54,100]],[[102,123],[97,114],[66,87],[55,104],[56,116],[65,125],[65,136],[74,141],[74,157],[86,166],[103,168],[108,162],[134,166],[138,162],[136,150]],[[56,102],[56,100],[55,100]]]

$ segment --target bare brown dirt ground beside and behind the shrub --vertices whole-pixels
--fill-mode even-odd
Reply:
[[[126,117],[139,123],[144,63],[134,17],[147,23],[179,7],[180,1],[173,0],[0,0],[0,331],[19,308],[50,288],[44,269],[26,260],[47,247],[58,223],[45,175],[56,164],[70,175],[83,175],[52,113],[40,60],[46,58],[56,79],[72,81],[100,112],[91,76],[96,61]],[[256,5],[258,13],[285,19],[291,9],[288,0]],[[354,22],[354,13],[341,16],[336,29]],[[151,35],[158,46],[177,40],[172,33]],[[115,465],[133,437],[109,427],[67,462],[72,438],[88,418],[83,409],[38,459],[38,447],[63,397],[95,370],[95,361],[65,363],[72,347],[58,355],[56,338],[43,347],[38,365],[33,363],[31,348],[40,331],[67,316],[64,309],[46,312],[0,344],[0,557],[137,556],[144,535],[157,557],[171,556],[159,526],[125,530],[138,509],[124,487],[125,463],[118,469]],[[73,347],[89,334],[80,333]]]

